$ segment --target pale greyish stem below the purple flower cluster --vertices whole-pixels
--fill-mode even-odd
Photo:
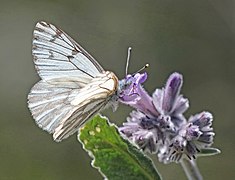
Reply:
[[[183,158],[180,163],[189,180],[202,180],[203,179],[197,167],[196,161]]]

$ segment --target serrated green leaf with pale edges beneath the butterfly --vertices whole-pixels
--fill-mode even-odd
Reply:
[[[92,166],[107,179],[161,179],[152,161],[123,139],[105,117],[97,115],[88,121],[78,140],[93,158]]]

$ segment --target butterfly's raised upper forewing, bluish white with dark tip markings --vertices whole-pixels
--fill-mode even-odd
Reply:
[[[103,68],[65,32],[39,22],[33,32],[33,59],[40,77],[51,84],[83,87]]]

